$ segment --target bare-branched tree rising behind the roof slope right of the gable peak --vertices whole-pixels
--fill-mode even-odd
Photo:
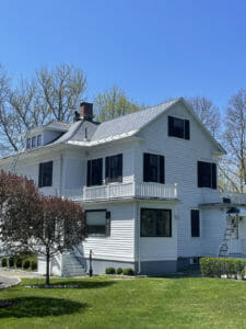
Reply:
[[[213,137],[218,137],[221,128],[220,110],[210,99],[196,97],[186,99],[200,121],[210,131]]]

